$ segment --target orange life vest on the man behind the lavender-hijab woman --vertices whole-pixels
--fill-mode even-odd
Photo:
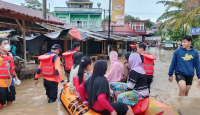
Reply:
[[[156,60],[156,57],[149,53],[144,53],[142,55],[144,59],[142,66],[145,70],[146,75],[153,75],[154,73],[153,66],[154,66],[154,60]]]

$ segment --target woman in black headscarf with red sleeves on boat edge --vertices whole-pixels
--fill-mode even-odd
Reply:
[[[104,77],[106,70],[106,61],[96,61],[93,75],[79,86],[83,104],[88,104],[89,109],[103,115],[134,115],[130,106],[123,103],[109,102],[109,85],[108,80]],[[86,93],[88,95],[88,101],[86,101]]]

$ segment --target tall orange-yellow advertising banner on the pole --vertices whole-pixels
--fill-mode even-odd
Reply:
[[[124,26],[125,0],[113,0],[111,26]]]

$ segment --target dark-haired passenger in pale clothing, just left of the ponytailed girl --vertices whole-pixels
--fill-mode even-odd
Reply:
[[[69,76],[69,91],[70,93],[74,94],[76,93],[75,87],[74,87],[74,83],[73,83],[73,77],[74,74],[76,74],[78,72],[79,69],[79,63],[81,61],[81,58],[84,56],[84,54],[82,52],[77,52],[73,55],[74,58],[74,65],[72,66],[72,69],[70,71],[70,76]]]

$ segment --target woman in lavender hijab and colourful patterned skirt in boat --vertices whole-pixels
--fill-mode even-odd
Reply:
[[[131,70],[127,83],[111,83],[111,89],[117,96],[117,102],[134,106],[139,100],[149,96],[147,78],[142,67],[142,60],[138,53],[131,53],[129,57]],[[121,93],[119,93],[121,92]]]

